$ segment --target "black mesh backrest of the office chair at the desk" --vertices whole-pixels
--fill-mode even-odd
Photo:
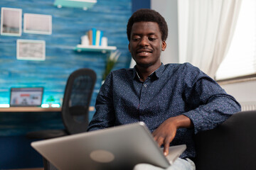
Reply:
[[[88,113],[96,74],[92,69],[78,69],[68,77],[62,106],[62,118],[69,134],[86,132]]]

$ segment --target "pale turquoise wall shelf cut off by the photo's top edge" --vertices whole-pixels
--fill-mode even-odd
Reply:
[[[65,6],[87,10],[88,8],[92,8],[96,3],[97,0],[55,0],[54,5],[58,8]]]

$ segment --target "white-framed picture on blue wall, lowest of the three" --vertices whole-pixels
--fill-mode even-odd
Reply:
[[[44,40],[17,40],[17,60],[46,60]]]

